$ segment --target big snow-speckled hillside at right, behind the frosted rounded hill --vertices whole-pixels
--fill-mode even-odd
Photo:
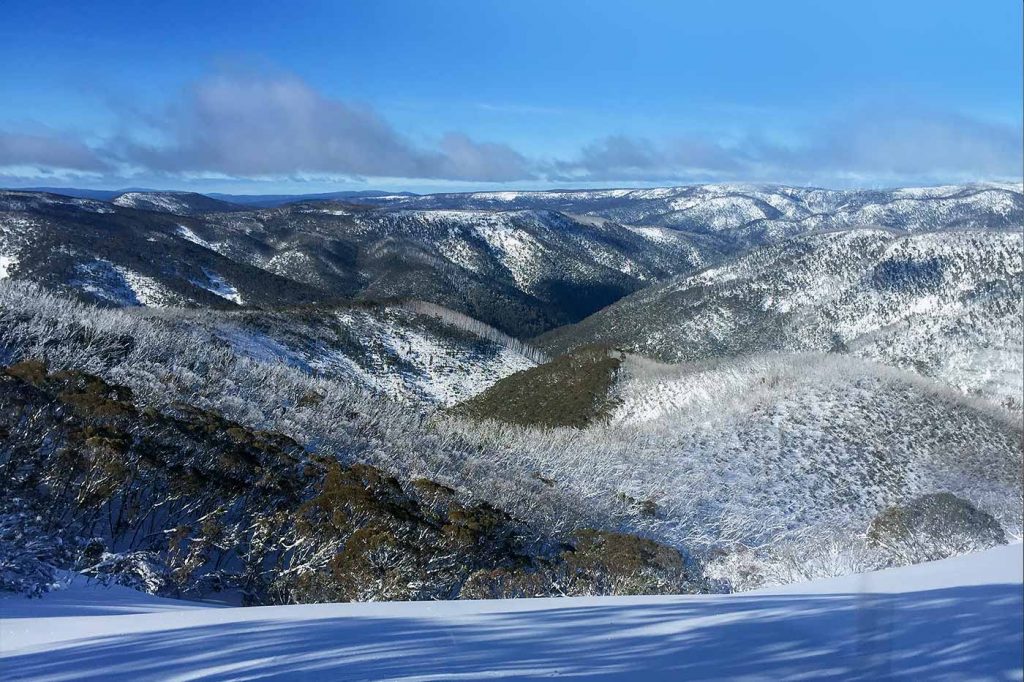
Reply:
[[[1019,231],[824,232],[654,285],[540,341],[666,361],[850,352],[1019,410],[1022,267]]]

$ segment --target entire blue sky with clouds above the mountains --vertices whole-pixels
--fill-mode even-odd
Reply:
[[[1019,179],[1021,3],[4,3],[0,185]]]

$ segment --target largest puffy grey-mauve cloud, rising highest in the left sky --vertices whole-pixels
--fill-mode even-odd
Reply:
[[[217,75],[188,89],[158,124],[159,143],[123,140],[131,164],[239,176],[301,172],[511,181],[531,176],[511,147],[461,133],[412,143],[367,105],[326,97],[287,76]]]

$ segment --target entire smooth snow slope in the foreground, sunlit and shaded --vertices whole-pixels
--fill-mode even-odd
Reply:
[[[1019,680],[1022,571],[1016,544],[725,596],[218,608],[80,586],[0,601],[0,677]]]

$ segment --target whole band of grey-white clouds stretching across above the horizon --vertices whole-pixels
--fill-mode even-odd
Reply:
[[[304,175],[464,183],[780,181],[880,183],[1019,178],[1019,126],[935,112],[850,113],[781,143],[687,134],[609,134],[566,158],[527,158],[452,131],[414,142],[371,106],[329,97],[287,74],[217,74],[165,112],[101,144],[0,131],[0,170],[55,169],[112,178]]]

